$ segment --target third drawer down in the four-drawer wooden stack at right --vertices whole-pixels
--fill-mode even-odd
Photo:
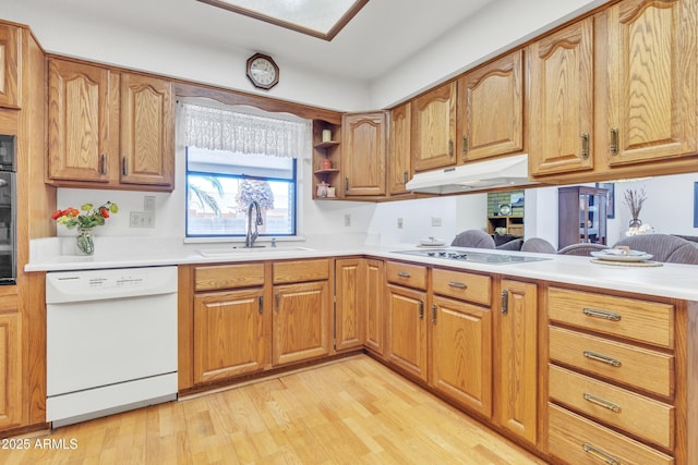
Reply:
[[[674,407],[565,368],[549,366],[550,397],[666,449]]]

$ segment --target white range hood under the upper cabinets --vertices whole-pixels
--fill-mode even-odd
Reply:
[[[538,184],[528,178],[528,154],[417,173],[406,184],[412,192],[458,194]]]

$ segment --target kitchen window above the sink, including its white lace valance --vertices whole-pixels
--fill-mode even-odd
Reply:
[[[253,200],[262,210],[260,236],[297,234],[297,167],[310,156],[310,122],[183,103],[183,124],[188,237],[244,236]]]

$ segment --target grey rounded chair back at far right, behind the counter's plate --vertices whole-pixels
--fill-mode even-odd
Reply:
[[[614,247],[625,246],[631,250],[652,254],[655,261],[698,265],[698,247],[690,241],[670,234],[631,235],[618,241]]]

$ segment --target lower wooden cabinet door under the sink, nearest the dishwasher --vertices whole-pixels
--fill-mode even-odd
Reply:
[[[263,296],[262,287],[194,296],[194,383],[264,369]]]

